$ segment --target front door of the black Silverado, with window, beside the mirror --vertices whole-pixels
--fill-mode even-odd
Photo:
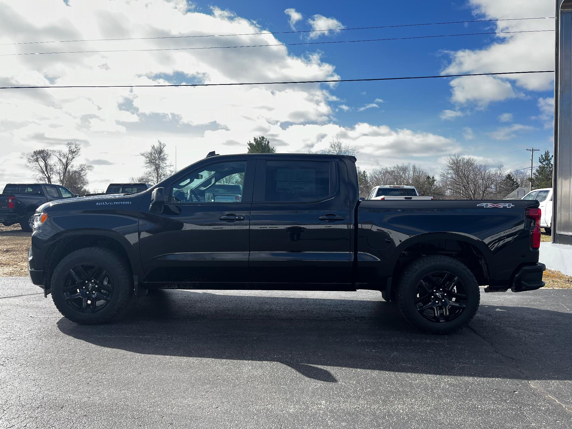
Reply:
[[[213,157],[164,186],[160,213],[150,210],[150,194],[144,198],[139,243],[148,281],[196,287],[248,281],[254,170],[253,158]]]

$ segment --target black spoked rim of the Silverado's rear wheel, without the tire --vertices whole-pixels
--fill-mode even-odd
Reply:
[[[425,319],[445,323],[455,320],[464,311],[467,291],[459,276],[448,271],[434,271],[419,280],[414,302]]]

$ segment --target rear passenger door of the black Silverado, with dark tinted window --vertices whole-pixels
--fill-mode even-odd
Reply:
[[[259,156],[250,225],[253,287],[347,288],[351,219],[343,162]]]

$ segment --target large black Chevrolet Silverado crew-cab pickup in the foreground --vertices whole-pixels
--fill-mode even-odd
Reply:
[[[154,288],[374,289],[450,333],[479,285],[543,287],[539,217],[537,201],[360,201],[351,156],[210,153],[142,193],[39,207],[29,273],[83,324]]]

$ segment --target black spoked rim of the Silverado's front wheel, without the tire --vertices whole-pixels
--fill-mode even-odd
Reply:
[[[74,310],[95,313],[104,309],[112,300],[113,281],[101,265],[77,264],[67,272],[63,296],[67,305]]]

